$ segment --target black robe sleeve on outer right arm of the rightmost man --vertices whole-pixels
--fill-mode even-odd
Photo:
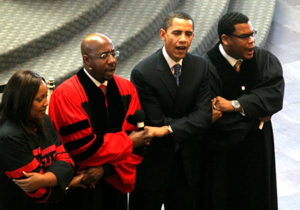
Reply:
[[[256,49],[258,83],[237,98],[250,118],[274,114],[282,108],[284,80],[279,60],[264,49]]]

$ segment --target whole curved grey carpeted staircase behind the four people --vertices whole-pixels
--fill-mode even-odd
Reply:
[[[160,48],[159,28],[171,10],[189,13],[195,36],[189,52],[217,42],[217,22],[230,10],[246,14],[263,46],[275,0],[0,0],[0,92],[17,70],[30,69],[56,86],[82,66],[80,43],[99,32],[120,51],[115,74],[129,79],[134,65]]]

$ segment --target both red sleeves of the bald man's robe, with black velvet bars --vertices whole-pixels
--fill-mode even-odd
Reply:
[[[133,84],[115,76],[126,116],[133,114],[139,106],[138,97]],[[122,192],[132,191],[135,182],[136,164],[141,157],[132,154],[132,140],[125,130],[136,127],[124,120],[122,131],[96,134],[91,126],[90,117],[85,106],[86,95],[83,91],[76,91],[67,84],[54,90],[49,105],[49,115],[54,128],[65,148],[73,158],[78,170],[89,166],[100,166],[109,163],[114,166],[115,174],[106,178],[115,188]],[[67,91],[66,91],[67,89]],[[135,91],[135,93],[134,93]],[[85,108],[84,108],[85,107]]]

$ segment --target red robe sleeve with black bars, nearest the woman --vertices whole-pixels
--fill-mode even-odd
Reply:
[[[64,85],[64,84],[60,84]],[[97,135],[84,110],[82,98],[73,89],[61,86],[54,90],[49,104],[49,116],[64,147],[78,169],[100,166],[122,160],[132,151],[132,141],[124,131]]]

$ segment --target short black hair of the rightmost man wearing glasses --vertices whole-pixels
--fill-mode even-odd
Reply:
[[[230,11],[224,14],[217,25],[217,32],[219,41],[221,42],[221,35],[227,34],[230,35],[235,31],[234,25],[239,23],[247,23],[249,18],[237,11]]]

